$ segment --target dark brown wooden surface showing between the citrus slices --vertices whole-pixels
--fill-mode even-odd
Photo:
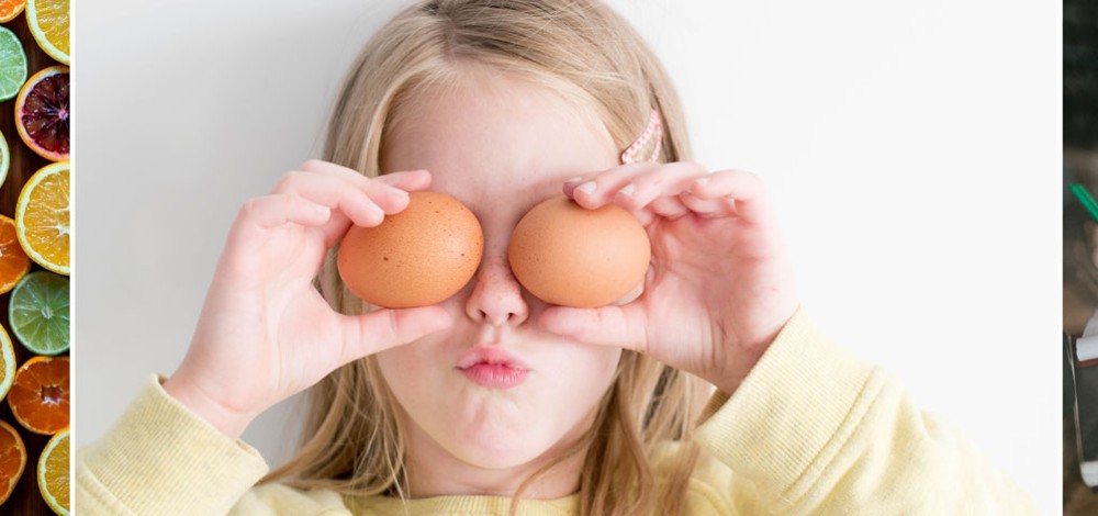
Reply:
[[[35,43],[34,37],[31,36],[31,31],[26,27],[25,14],[20,14],[14,20],[4,23],[3,26],[14,32],[19,36],[20,42],[23,43],[23,52],[26,53],[27,78],[43,68],[60,64],[42,52],[42,48],[38,48],[38,44]],[[15,130],[15,99],[0,102],[0,133],[3,133],[4,139],[8,141],[8,148],[11,153],[8,178],[3,184],[0,184],[0,214],[14,218],[15,201],[19,199],[19,192],[22,190],[26,179],[40,168],[49,165],[51,161],[34,154],[19,138],[19,131]],[[44,269],[37,263],[32,262],[31,271],[35,270]],[[10,327],[8,325],[8,296],[9,294],[0,294],[0,324],[3,325],[4,329]],[[8,333],[11,334],[11,332]],[[12,340],[15,340],[14,336],[12,336]],[[18,364],[22,364],[33,356],[33,354],[24,349],[18,341],[13,344]],[[19,480],[19,485],[11,497],[3,505],[0,505],[0,514],[54,514],[49,506],[42,500],[42,494],[38,493],[37,481],[38,456],[42,453],[42,448],[46,446],[46,441],[49,440],[49,436],[32,434],[20,426],[15,418],[12,417],[8,403],[0,403],[0,419],[8,422],[12,427],[18,429],[20,437],[23,438],[23,445],[26,446],[26,468],[23,470],[23,476]]]

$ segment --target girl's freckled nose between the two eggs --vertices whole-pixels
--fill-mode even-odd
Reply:
[[[474,322],[517,326],[529,316],[523,289],[511,273],[506,257],[485,259],[473,281],[473,291],[466,302],[466,314]]]

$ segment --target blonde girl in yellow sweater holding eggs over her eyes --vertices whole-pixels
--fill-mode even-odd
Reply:
[[[816,329],[759,179],[690,161],[670,81],[604,5],[408,8],[328,133],[325,161],[240,210],[179,369],[79,452],[79,514],[1034,512]],[[366,306],[334,250],[421,190],[477,214],[480,268],[438,305]],[[552,306],[513,277],[515,224],[561,192],[647,228],[628,298]],[[522,381],[463,374],[483,361]],[[236,439],[310,388],[304,442],[268,473]]]

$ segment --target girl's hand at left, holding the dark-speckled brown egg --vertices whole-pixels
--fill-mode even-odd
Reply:
[[[323,161],[282,177],[247,201],[206,294],[191,347],[164,388],[229,437],[255,416],[351,360],[450,324],[437,306],[333,311],[313,287],[329,247],[350,224],[376,226],[407,206],[426,171],[369,179]]]

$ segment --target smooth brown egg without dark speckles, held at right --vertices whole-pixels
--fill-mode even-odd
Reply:
[[[620,300],[645,280],[648,232],[625,209],[587,210],[565,197],[523,216],[511,235],[515,278],[551,304],[593,309]]]

